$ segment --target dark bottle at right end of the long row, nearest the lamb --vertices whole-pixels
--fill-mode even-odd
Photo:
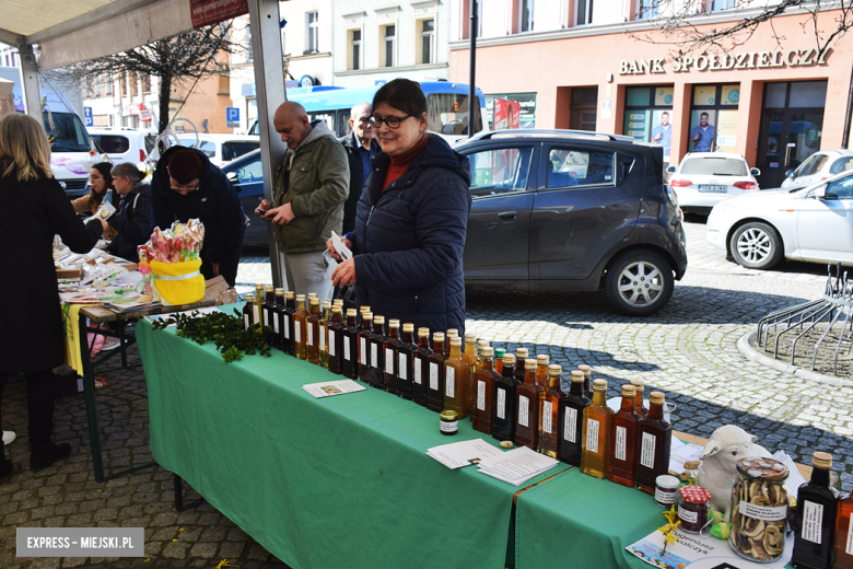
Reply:
[[[636,484],[634,488],[654,496],[655,480],[669,472],[673,426],[664,420],[665,396],[652,392],[648,416],[636,426]],[[851,568],[853,569],[853,568]]]

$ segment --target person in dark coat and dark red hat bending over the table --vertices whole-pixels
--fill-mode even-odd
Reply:
[[[151,199],[154,222],[161,230],[194,218],[205,224],[201,274],[205,279],[222,275],[233,287],[246,224],[237,193],[225,174],[200,150],[172,147],[157,162]]]

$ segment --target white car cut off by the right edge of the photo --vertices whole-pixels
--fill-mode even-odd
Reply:
[[[708,217],[708,242],[744,267],[782,258],[853,265],[853,171],[807,188],[721,201]]]

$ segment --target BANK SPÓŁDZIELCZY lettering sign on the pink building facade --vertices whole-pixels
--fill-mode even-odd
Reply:
[[[775,51],[748,51],[743,54],[710,54],[698,57],[676,57],[671,61],[665,58],[639,59],[619,62],[620,76],[642,76],[645,73],[666,73],[671,67],[674,73],[685,71],[723,71],[729,69],[764,69],[771,67],[825,66],[830,50],[818,55],[814,48],[787,49]]]

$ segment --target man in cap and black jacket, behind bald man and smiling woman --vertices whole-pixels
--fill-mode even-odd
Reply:
[[[371,173],[371,160],[382,152],[376,142],[376,133],[371,123],[373,107],[370,103],[359,103],[350,111],[350,128],[352,132],[341,137],[338,141],[347,151],[350,162],[350,195],[343,202],[343,233],[350,233],[355,229],[355,211],[359,207],[361,190],[367,183]]]

